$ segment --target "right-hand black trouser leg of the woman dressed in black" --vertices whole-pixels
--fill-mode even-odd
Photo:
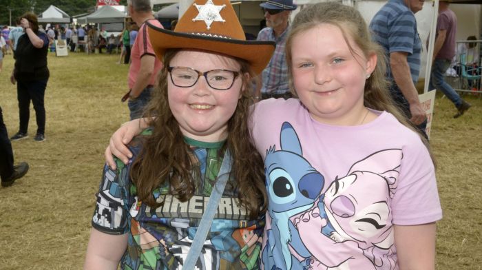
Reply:
[[[45,87],[47,87],[47,81],[32,81],[29,83],[28,92],[32,103],[34,105],[36,116],[36,134],[45,134]]]

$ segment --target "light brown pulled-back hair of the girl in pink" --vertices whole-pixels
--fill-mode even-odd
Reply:
[[[421,140],[430,152],[428,141],[420,134],[419,130],[405,117],[403,112],[395,105],[390,93],[388,92],[388,81],[386,81],[386,56],[381,47],[372,41],[368,26],[362,17],[362,14],[350,6],[337,2],[316,3],[308,6],[296,14],[291,31],[286,39],[286,62],[288,63],[289,80],[291,92],[296,96],[296,90],[293,85],[293,73],[291,65],[291,50],[293,39],[298,34],[315,28],[322,23],[335,25],[342,31],[343,37],[352,54],[357,54],[350,45],[348,37],[353,39],[354,43],[362,50],[364,58],[376,54],[377,65],[366,80],[364,89],[364,105],[373,110],[386,111],[393,114],[395,118],[406,127],[412,129],[419,134]],[[432,153],[430,152],[430,156]],[[434,160],[432,156],[432,160]]]

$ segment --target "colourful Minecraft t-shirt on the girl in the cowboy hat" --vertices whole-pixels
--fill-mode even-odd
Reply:
[[[129,169],[140,143],[130,147],[134,156],[127,165],[118,162],[115,171],[104,167],[92,226],[104,233],[129,234],[122,269],[182,269],[224,156],[224,141],[185,141],[191,147],[191,163],[200,172],[193,174],[199,178],[196,191],[185,203],[169,194],[169,183],[153,192],[156,200],[164,201],[163,206],[154,209],[138,200]],[[196,269],[259,269],[263,228],[264,216],[249,220],[239,206],[236,183],[230,179]]]

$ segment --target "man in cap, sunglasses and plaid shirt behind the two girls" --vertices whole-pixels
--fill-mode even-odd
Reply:
[[[261,3],[260,7],[266,19],[266,28],[258,33],[258,41],[275,41],[276,49],[269,64],[256,79],[255,97],[290,98],[284,44],[288,37],[291,10],[297,6],[293,0],[268,0]]]

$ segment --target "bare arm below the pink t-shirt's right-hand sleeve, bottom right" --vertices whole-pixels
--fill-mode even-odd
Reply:
[[[435,269],[435,222],[394,226],[395,247],[400,270]]]

